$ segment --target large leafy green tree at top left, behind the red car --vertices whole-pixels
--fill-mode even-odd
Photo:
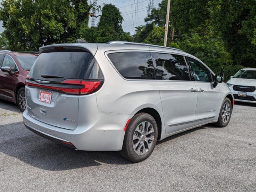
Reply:
[[[0,20],[11,50],[75,42],[88,25],[91,5],[82,0],[3,0]]]

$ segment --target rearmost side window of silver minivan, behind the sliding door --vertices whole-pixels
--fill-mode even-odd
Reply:
[[[155,79],[154,66],[149,52],[120,52],[108,57],[124,78]]]

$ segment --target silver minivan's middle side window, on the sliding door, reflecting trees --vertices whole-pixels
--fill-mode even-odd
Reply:
[[[188,67],[181,55],[155,53],[156,79],[190,81]]]

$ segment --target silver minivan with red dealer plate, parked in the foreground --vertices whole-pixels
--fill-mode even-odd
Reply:
[[[29,130],[77,150],[133,162],[157,140],[228,125],[234,98],[221,76],[175,48],[122,41],[43,46],[26,80]]]

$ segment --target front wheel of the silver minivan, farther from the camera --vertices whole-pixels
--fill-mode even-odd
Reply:
[[[225,98],[220,108],[218,122],[215,123],[218,127],[226,127],[230,121],[232,114],[232,104],[229,98]]]

